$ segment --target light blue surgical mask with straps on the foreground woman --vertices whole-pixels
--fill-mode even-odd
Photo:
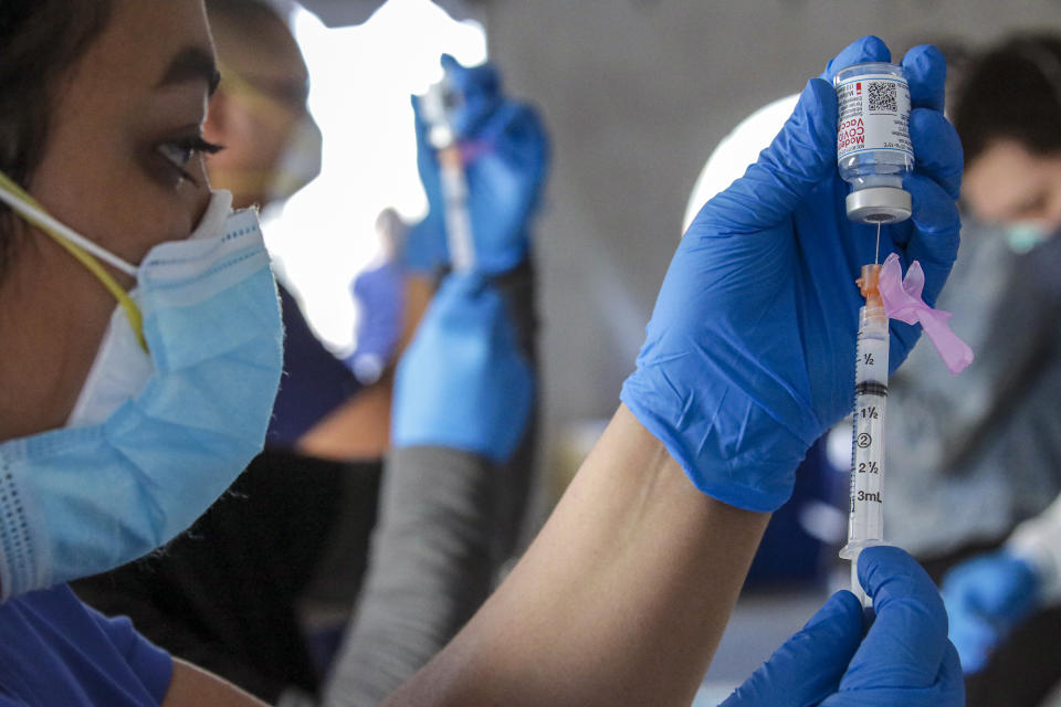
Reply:
[[[17,189],[0,176],[0,199],[70,247],[65,228]],[[92,246],[137,286],[66,428],[0,444],[2,599],[166,544],[261,451],[283,329],[258,214],[230,204],[214,193],[190,239],[154,247],[138,267]]]

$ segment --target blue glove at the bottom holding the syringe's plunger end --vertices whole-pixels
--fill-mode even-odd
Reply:
[[[876,619],[833,594],[721,707],[959,707],[965,682],[947,641],[947,614],[928,576],[893,547],[866,548],[859,579]]]

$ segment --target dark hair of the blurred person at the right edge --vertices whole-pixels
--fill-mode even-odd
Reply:
[[[954,126],[967,165],[992,140],[1061,151],[1061,36],[1021,34],[977,55],[960,81]]]

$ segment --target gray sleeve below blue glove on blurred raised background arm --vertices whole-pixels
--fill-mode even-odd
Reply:
[[[494,284],[534,360],[532,268],[524,265]],[[444,447],[390,453],[368,574],[325,687],[325,705],[378,705],[490,595],[519,537],[535,426],[528,425],[519,450],[502,466]]]

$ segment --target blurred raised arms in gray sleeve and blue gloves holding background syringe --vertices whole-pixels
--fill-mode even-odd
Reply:
[[[428,663],[517,549],[529,498],[537,407],[530,226],[547,137],[534,109],[505,96],[493,66],[466,68],[450,56],[442,66],[458,96],[451,120],[464,154],[473,265],[449,272],[440,156],[414,99],[429,211],[410,229],[402,262],[418,276],[438,274],[440,284],[399,363],[372,562],[327,705],[377,705]]]

